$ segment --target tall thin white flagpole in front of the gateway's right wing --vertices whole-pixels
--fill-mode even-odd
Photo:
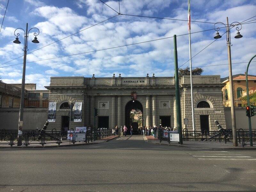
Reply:
[[[191,61],[191,35],[190,35],[190,0],[188,0],[188,41],[189,41],[189,67],[190,67],[190,87],[191,87],[191,111],[192,111],[192,127],[195,131],[194,116],[194,99],[193,99],[193,82],[192,82],[192,61]]]

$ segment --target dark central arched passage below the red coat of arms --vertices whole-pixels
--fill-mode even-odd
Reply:
[[[137,133],[138,132],[138,123],[133,123],[133,122],[131,122],[131,119],[130,119],[132,109],[140,110],[142,112],[142,125],[143,125],[143,107],[142,107],[141,103],[137,100],[131,100],[125,106],[125,125],[127,126],[129,132],[130,132],[130,127],[132,125],[133,132]]]

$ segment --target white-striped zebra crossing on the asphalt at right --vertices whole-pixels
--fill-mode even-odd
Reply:
[[[190,151],[188,154],[199,160],[256,160],[255,157],[237,154],[235,151]]]

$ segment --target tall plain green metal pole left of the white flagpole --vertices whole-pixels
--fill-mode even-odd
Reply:
[[[176,119],[178,126],[178,133],[180,134],[180,144],[182,144],[181,134],[181,112],[180,112],[180,86],[179,86],[179,73],[178,73],[178,52],[176,35],[173,36],[173,48],[174,48],[174,72],[175,72],[175,99],[176,99]]]

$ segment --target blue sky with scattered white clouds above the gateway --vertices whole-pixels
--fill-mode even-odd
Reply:
[[[106,4],[116,11],[118,1]],[[242,22],[256,16],[255,1],[220,1],[191,0],[191,20],[229,23]],[[7,0],[0,0],[0,20],[2,21]],[[123,14],[144,15],[187,20],[187,0],[120,0]],[[69,36],[81,29],[116,15],[116,12],[99,0],[10,0],[3,28],[0,33],[0,65],[23,55],[23,44],[13,44],[16,28],[37,27],[39,44],[31,43],[34,36],[29,34],[28,49],[33,51],[58,39]],[[251,20],[256,19],[256,17]],[[255,22],[255,21],[253,21]],[[212,29],[213,24],[191,23],[191,32]],[[31,31],[34,32],[34,31]],[[225,31],[220,29],[220,34]],[[248,62],[256,54],[256,23],[244,24],[240,30],[243,38],[235,39],[236,29],[231,30],[232,62]],[[27,62],[60,57],[81,52],[94,51],[125,44],[170,37],[174,34],[188,33],[186,21],[161,20],[118,15],[90,29],[62,41],[46,46],[27,55]],[[214,39],[215,31],[191,35],[192,56],[201,51]],[[23,43],[23,34],[20,33]],[[177,37],[179,66],[189,59],[188,35]],[[6,64],[22,63],[22,57]],[[223,35],[203,52],[192,59],[193,67],[227,64],[226,36]],[[246,64],[233,64],[233,74],[244,73]],[[183,67],[189,66],[189,62]],[[203,75],[228,76],[228,65],[203,67]],[[37,89],[49,85],[51,76],[112,77],[113,73],[128,76],[173,76],[173,39],[168,38],[150,43],[131,45],[106,51],[98,51],[63,57],[52,60],[31,62],[26,68],[26,83],[36,83]],[[255,64],[250,67],[250,74],[256,74]],[[5,83],[21,83],[22,65],[0,68],[0,76]]]

